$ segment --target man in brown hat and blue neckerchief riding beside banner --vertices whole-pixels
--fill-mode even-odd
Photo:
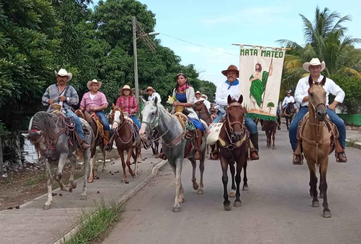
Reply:
[[[217,86],[216,90],[216,104],[219,105],[218,116],[213,120],[212,123],[218,123],[219,120],[225,115],[226,111],[224,107],[228,105],[227,97],[231,95],[232,99],[239,99],[239,71],[235,65],[230,65],[228,69],[223,70],[222,74],[227,77],[225,82],[222,82]],[[245,125],[247,126],[253,145],[258,151],[258,131],[257,125],[251,118],[245,118]],[[212,151],[213,148],[212,148]],[[258,160],[259,156],[257,151],[251,151],[251,159]],[[214,156],[214,157],[213,157]],[[217,159],[217,153],[213,154],[212,159]]]

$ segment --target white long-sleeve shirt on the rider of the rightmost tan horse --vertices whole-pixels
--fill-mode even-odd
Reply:
[[[300,103],[301,106],[308,106],[308,101],[302,102],[305,96],[308,96],[308,89],[310,88],[310,85],[308,84],[309,75],[306,77],[300,79],[297,83],[297,87],[295,90],[295,100],[297,103]],[[320,82],[323,79],[323,75],[320,75],[318,78],[318,82]],[[325,85],[323,86],[323,89],[326,91],[326,106],[329,105],[329,94],[335,95],[335,101],[338,101],[339,103],[343,102],[343,99],[345,98],[345,92],[331,79],[326,78]]]

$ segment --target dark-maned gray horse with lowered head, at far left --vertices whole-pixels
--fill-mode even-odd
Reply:
[[[85,135],[84,141],[90,145],[94,144],[94,134],[88,122],[79,118],[83,126],[87,128],[90,134]],[[34,143],[35,148],[41,153],[42,160],[46,165],[46,176],[48,185],[48,199],[44,204],[43,209],[48,210],[51,208],[52,197],[52,174],[51,174],[51,161],[57,161],[58,167],[55,173],[55,179],[59,183],[62,191],[72,192],[77,187],[77,183],[74,182],[74,170],[77,164],[77,158],[73,154],[75,151],[74,141],[70,141],[69,136],[65,133],[58,135],[62,129],[60,126],[62,123],[58,120],[56,114],[48,112],[38,112],[31,118],[29,123],[29,134],[22,134],[26,138],[29,138]],[[90,148],[83,151],[84,156],[84,184],[83,192],[79,199],[87,199],[87,175],[88,164],[90,160]],[[69,178],[69,184],[65,184],[61,180],[61,172],[65,165],[66,160],[71,162],[71,174]]]

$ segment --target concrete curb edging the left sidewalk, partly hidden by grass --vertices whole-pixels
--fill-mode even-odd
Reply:
[[[118,202],[122,203],[122,202],[126,202],[127,200],[129,200],[140,189],[142,189],[146,184],[148,184],[154,177],[156,177],[161,172],[161,170],[163,170],[167,165],[168,165],[168,160],[163,160],[159,164],[154,166],[152,168],[151,174],[148,175],[147,177],[145,177],[144,180],[142,180],[142,182],[139,182],[138,184],[136,184],[132,189],[130,189],[130,191],[126,192],[125,195],[123,195],[118,200]],[[79,223],[77,226],[72,228],[68,233],[66,233],[60,239],[55,241],[53,244],[64,244],[66,241],[73,238],[73,236],[78,234],[78,232],[80,231],[82,225],[86,224],[88,222],[88,220],[90,219],[90,217],[93,216],[94,214],[96,214],[97,212],[98,211],[96,211],[96,212],[92,213],[91,215],[89,215],[86,220],[84,220],[83,222]]]

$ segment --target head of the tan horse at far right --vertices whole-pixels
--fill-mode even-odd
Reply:
[[[308,100],[315,111],[316,119],[324,121],[326,116],[326,91],[323,89],[326,77],[323,77],[321,82],[313,83],[312,77],[308,79],[310,88],[308,90]]]

